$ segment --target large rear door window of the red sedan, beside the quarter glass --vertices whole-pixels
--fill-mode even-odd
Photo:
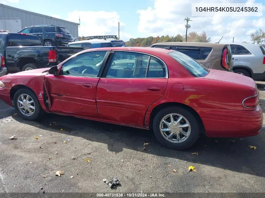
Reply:
[[[115,52],[106,78],[146,78],[149,56],[135,52]]]

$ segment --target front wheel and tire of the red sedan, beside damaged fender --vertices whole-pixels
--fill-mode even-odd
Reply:
[[[18,115],[26,120],[40,119],[44,113],[35,93],[29,89],[19,89],[13,103]]]

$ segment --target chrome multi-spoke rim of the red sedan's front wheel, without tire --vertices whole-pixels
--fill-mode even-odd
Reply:
[[[23,115],[31,116],[35,112],[35,103],[28,94],[19,95],[17,105]]]

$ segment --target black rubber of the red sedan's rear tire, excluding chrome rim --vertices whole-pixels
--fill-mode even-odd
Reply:
[[[173,114],[173,113],[183,115],[190,124],[191,133],[188,139],[181,143],[169,142],[162,136],[160,132],[160,122],[162,118],[167,114]],[[168,108],[162,109],[155,115],[154,120],[153,120],[153,131],[154,131],[154,134],[157,140],[162,145],[168,148],[177,149],[177,150],[187,149],[188,147],[192,146],[199,137],[199,123],[197,119],[195,118],[195,116],[193,116],[193,114],[189,110],[183,107],[168,107]]]

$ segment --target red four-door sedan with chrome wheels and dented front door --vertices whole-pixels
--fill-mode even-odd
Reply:
[[[27,120],[48,112],[153,129],[172,149],[190,147],[199,133],[257,135],[263,122],[251,78],[160,48],[90,49],[52,68],[6,75],[0,99]]]

